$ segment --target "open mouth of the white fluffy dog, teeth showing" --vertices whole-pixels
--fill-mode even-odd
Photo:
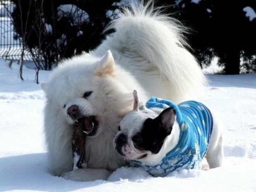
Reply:
[[[94,136],[97,133],[99,123],[95,116],[88,116],[78,118],[76,124],[83,126],[83,132],[88,136]]]

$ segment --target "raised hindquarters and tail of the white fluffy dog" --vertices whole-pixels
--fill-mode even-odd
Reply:
[[[179,103],[206,84],[196,59],[185,48],[186,28],[149,3],[133,6],[132,12],[125,9],[106,30],[110,28],[116,32],[93,53],[102,55],[110,49],[116,62],[132,73],[151,96]]]

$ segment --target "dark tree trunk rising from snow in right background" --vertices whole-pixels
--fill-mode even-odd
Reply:
[[[237,75],[240,72],[240,50],[239,47],[229,47],[225,57],[226,75]]]

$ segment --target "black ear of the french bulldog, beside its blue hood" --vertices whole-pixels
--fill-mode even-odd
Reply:
[[[164,111],[162,111],[161,114],[156,118],[160,121],[161,127],[166,129],[167,135],[170,135],[176,121],[175,109],[173,107],[164,109]]]

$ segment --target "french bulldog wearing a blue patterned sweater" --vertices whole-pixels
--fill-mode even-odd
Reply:
[[[116,151],[131,166],[141,166],[153,176],[201,167],[221,166],[222,126],[204,104],[186,101],[178,105],[152,97],[146,107],[133,91],[134,105],[120,122],[113,140]]]

